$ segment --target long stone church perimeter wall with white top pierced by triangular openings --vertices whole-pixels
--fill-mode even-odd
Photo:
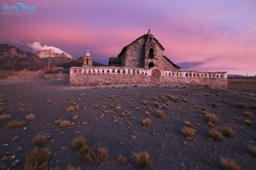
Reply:
[[[162,70],[125,67],[71,67],[70,86],[99,86],[112,84],[155,84],[153,70],[160,72],[158,83],[171,86],[207,86],[227,88],[226,72],[194,72],[186,70]],[[153,81],[154,80],[154,81]]]

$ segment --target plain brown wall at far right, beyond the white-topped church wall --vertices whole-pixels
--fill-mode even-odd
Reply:
[[[228,88],[256,89],[256,78],[227,78]]]

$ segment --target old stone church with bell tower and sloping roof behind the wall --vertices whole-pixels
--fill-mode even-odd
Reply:
[[[163,55],[165,49],[155,39],[148,29],[148,33],[140,36],[128,46],[125,46],[117,57],[109,58],[109,66],[150,68],[158,67],[167,70],[178,70],[179,66]]]

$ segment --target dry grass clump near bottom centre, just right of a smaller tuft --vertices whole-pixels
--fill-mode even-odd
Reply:
[[[143,168],[147,168],[150,166],[149,154],[146,151],[140,151],[138,154],[132,152],[132,158],[135,164],[142,166]]]

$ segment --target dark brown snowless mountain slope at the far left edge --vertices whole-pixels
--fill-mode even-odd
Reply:
[[[9,44],[0,44],[0,67],[18,70],[29,67],[30,70],[43,70],[43,67],[47,66],[48,62],[31,52],[25,52]],[[50,64],[50,67],[56,66]]]

